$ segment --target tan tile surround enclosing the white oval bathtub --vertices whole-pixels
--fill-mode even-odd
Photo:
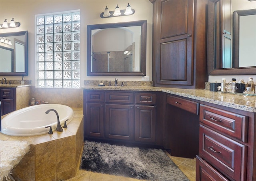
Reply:
[[[82,108],[72,107],[72,109],[74,117],[63,132],[54,131],[52,135],[26,137],[0,133],[1,140],[24,140],[30,143],[30,151],[13,169],[15,179],[18,181],[58,181],[76,175],[84,143],[84,121]]]

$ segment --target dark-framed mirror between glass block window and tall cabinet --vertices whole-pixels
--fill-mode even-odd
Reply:
[[[87,26],[87,76],[146,76],[147,21]]]

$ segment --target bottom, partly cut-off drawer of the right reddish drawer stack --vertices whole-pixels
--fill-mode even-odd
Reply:
[[[197,181],[228,181],[222,174],[209,165],[202,158],[196,156],[196,180]]]

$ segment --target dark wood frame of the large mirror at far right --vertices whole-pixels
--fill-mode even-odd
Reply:
[[[208,76],[211,75],[254,75],[256,73],[256,66],[252,67],[241,67],[241,68],[220,68],[220,69],[214,69],[214,64],[216,60],[216,53],[214,52],[215,47],[215,20],[214,20],[214,13],[215,13],[215,5],[216,0],[209,0],[208,1],[208,36],[207,36],[207,73]],[[246,11],[246,10],[245,10]],[[235,26],[235,33],[233,33],[234,37],[239,37],[239,32],[237,32],[237,29],[239,28],[239,18],[234,19]],[[235,41],[237,38],[234,38]],[[232,44],[232,52],[233,52],[233,62],[234,58],[238,58],[237,56],[234,56],[234,51],[238,51],[239,47],[237,42],[233,41]],[[235,46],[234,46],[235,44]]]

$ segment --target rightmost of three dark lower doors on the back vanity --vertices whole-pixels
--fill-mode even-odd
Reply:
[[[156,140],[156,106],[135,106],[135,141]]]

